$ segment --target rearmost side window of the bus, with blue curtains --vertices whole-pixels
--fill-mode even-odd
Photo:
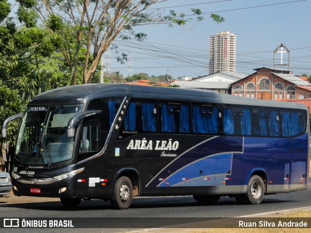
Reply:
[[[301,134],[306,128],[303,111],[282,111],[282,136],[293,137]]]

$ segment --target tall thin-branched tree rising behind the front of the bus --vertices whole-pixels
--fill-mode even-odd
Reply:
[[[55,38],[63,37],[62,53],[68,62],[72,83],[76,83],[78,55],[82,47],[86,48],[83,67],[83,83],[90,83],[102,54],[108,49],[117,36],[122,39],[132,37],[143,40],[144,33],[134,32],[139,25],[167,23],[169,25],[185,25],[191,20],[185,14],[177,15],[173,10],[165,15],[164,11],[155,9],[147,11],[150,6],[167,0],[17,0],[20,20],[27,22],[26,26],[33,25],[36,18],[34,12],[49,29]],[[199,9],[191,9],[197,20],[203,20]],[[211,14],[216,22],[225,19]],[[70,28],[75,34],[68,33]],[[70,30],[69,30],[70,31]],[[75,38],[73,39],[73,36]],[[75,45],[75,52],[69,45]],[[113,47],[113,49],[117,49]],[[127,60],[126,54],[119,54],[118,60],[122,63]]]

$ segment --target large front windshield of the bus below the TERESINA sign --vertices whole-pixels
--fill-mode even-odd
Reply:
[[[83,104],[68,106],[29,106],[20,126],[16,158],[27,164],[48,164],[70,160],[73,138],[67,136],[71,117]]]

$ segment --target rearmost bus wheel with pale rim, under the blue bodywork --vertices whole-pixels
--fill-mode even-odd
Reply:
[[[264,196],[264,183],[261,177],[254,175],[248,180],[247,193],[242,195],[245,204],[260,204]]]

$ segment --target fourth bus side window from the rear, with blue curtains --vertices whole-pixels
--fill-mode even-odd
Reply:
[[[198,134],[217,134],[220,109],[216,106],[192,104],[192,130]]]

